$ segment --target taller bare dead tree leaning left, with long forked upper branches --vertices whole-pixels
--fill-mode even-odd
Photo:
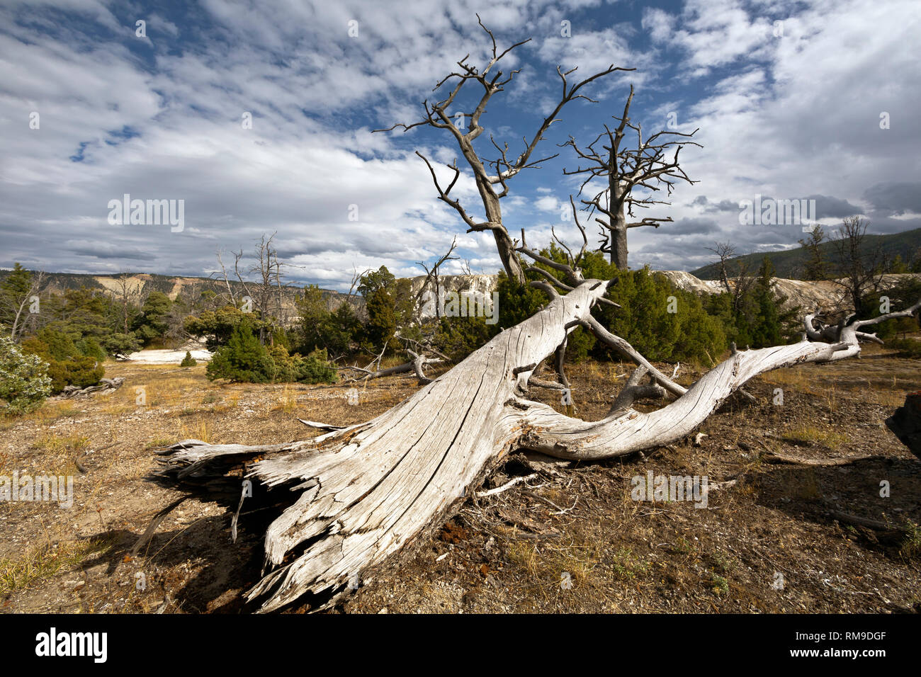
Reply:
[[[554,106],[554,110],[543,119],[537,131],[530,135],[530,139],[528,136],[523,137],[524,147],[517,158],[509,159],[508,144],[504,143],[500,145],[495,141],[493,135],[490,134],[489,140],[498,155],[495,156],[495,158],[487,159],[473,147],[473,142],[485,131],[484,126],[481,124],[481,118],[486,111],[486,106],[493,97],[499,92],[504,91],[506,85],[519,73],[519,70],[512,70],[508,72],[506,76],[505,72],[499,70],[496,66],[517,47],[530,42],[530,38],[528,40],[516,42],[506,50],[499,52],[495,43],[495,35],[483,25],[483,21],[480,20],[479,15],[477,15],[477,20],[480,22],[481,28],[484,29],[492,41],[492,58],[489,62],[482,68],[477,68],[475,65],[468,63],[467,60],[470,54],[467,54],[458,62],[460,70],[445,76],[433,89],[433,92],[437,92],[445,88],[445,86],[449,86],[449,89],[446,90],[445,98],[436,101],[429,101],[427,99],[423,101],[422,106],[425,111],[425,117],[422,120],[410,124],[397,123],[387,129],[375,131],[390,132],[397,127],[401,127],[404,132],[408,132],[414,127],[429,126],[435,127],[436,129],[447,130],[449,134],[454,137],[454,140],[461,150],[461,155],[463,155],[468,166],[472,169],[473,180],[476,182],[477,190],[483,201],[485,213],[484,220],[478,221],[473,218],[467,209],[461,205],[460,201],[450,195],[451,190],[461,177],[461,169],[457,166],[457,159],[454,160],[453,164],[447,165],[448,169],[450,169],[454,175],[449,181],[448,186],[442,187],[441,182],[438,181],[435,169],[432,167],[432,163],[428,161],[428,158],[418,151],[416,151],[416,155],[426,162],[426,166],[432,175],[432,181],[435,183],[435,188],[438,192],[438,199],[445,204],[449,204],[461,216],[461,219],[463,219],[463,222],[468,227],[467,232],[484,232],[491,230],[495,237],[495,246],[498,249],[499,258],[502,260],[502,265],[505,267],[509,278],[518,280],[520,284],[525,284],[526,278],[524,271],[521,269],[518,256],[515,255],[515,244],[511,237],[509,237],[508,231],[502,222],[502,207],[499,201],[508,194],[507,182],[524,169],[540,168],[542,162],[556,158],[559,155],[554,154],[544,158],[532,159],[535,149],[543,140],[543,134],[547,132],[551,124],[559,121],[558,116],[567,103],[577,99],[595,102],[594,99],[590,99],[588,96],[579,93],[582,88],[600,77],[608,76],[615,71],[632,71],[635,69],[615,67],[612,64],[605,70],[600,71],[600,73],[596,73],[575,84],[571,84],[567,78],[576,71],[576,68],[571,68],[564,72],[561,68],[557,67],[556,73],[560,76],[562,81],[563,91],[559,102]],[[464,86],[471,83],[474,86],[479,85],[480,88],[482,88],[479,99],[476,100],[472,112],[452,112],[452,106],[460,105],[459,98],[461,97],[461,91]],[[467,130],[466,132],[463,131],[465,129]]]

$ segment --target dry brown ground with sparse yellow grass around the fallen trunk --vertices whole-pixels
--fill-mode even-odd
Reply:
[[[599,418],[629,374],[569,368],[577,415]],[[668,368],[670,373],[670,368]],[[682,366],[679,380],[699,372]],[[240,517],[191,498],[135,548],[181,493],[148,481],[154,449],[183,438],[264,443],[315,432],[297,417],[348,425],[418,387],[221,385],[204,365],[111,364],[120,391],[46,403],[0,419],[0,475],[74,475],[74,504],[0,503],[0,611],[246,613],[271,511]],[[619,381],[619,383],[617,382]],[[540,465],[494,496],[472,496],[434,538],[362,587],[345,613],[889,613],[921,609],[921,462],[883,420],[921,387],[921,363],[869,346],[862,359],[776,371],[734,396],[693,438],[614,461]],[[143,390],[138,390],[143,389]],[[783,404],[776,405],[776,389]],[[143,395],[142,399],[141,396]],[[534,396],[562,407],[558,393]],[[768,462],[855,459],[845,465]],[[866,457],[866,458],[860,458]],[[647,471],[706,475],[707,507],[637,502]],[[481,488],[534,473],[512,459]],[[880,483],[891,496],[880,496]],[[718,484],[715,486],[715,484]],[[849,524],[834,511],[891,524]],[[298,603],[287,613],[309,611]]]

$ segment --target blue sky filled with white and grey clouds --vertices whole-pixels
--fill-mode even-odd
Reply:
[[[575,241],[562,206],[577,162],[554,144],[588,143],[631,84],[633,122],[699,128],[704,146],[682,151],[698,182],[642,215],[675,223],[631,230],[631,266],[694,269],[717,240],[795,246],[797,226],[740,225],[756,194],[815,199],[831,226],[921,227],[916,0],[0,0],[0,267],[205,275],[216,251],[277,231],[297,282],[347,288],[381,264],[420,274],[454,236],[473,272],[494,273],[492,237],[465,233],[414,155],[452,161],[449,134],[371,133],[418,120],[464,54],[484,63],[476,12],[500,49],[532,39],[482,120],[512,155],[559,97],[557,65],[636,69],[589,86],[598,103],[570,104],[543,142],[560,158],[510,181],[506,225],[531,244],[551,227]],[[482,217],[469,173],[455,192]],[[184,201],[181,231],[111,224],[125,193]]]

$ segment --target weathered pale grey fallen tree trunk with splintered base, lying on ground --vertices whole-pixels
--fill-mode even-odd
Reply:
[[[434,115],[447,117],[438,110],[446,106]],[[519,253],[545,263],[523,239],[518,251],[507,253],[521,274],[525,266]],[[919,302],[874,320],[848,319],[827,335],[817,333],[807,318],[799,343],[733,347],[725,361],[684,387],[592,316],[594,306],[611,302],[605,294],[617,280],[584,279],[579,258],[554,262],[560,278],[530,281],[549,298],[541,310],[365,423],[340,427],[304,421],[319,427],[321,435],[255,446],[188,439],[159,452],[159,476],[168,484],[189,484],[208,496],[235,496],[241,506],[242,474],[251,481],[245,484],[254,491],[250,500],[267,500],[278,510],[265,533],[267,573],[249,590],[249,600],[259,601],[261,611],[272,611],[313,593],[324,596],[323,608],[354,589],[356,580],[367,582],[412,552],[414,544],[424,543],[515,451],[593,461],[670,444],[692,433],[759,374],[857,356],[861,329],[921,308]],[[598,421],[561,414],[528,397],[538,365],[557,354],[580,326],[637,366],[612,411]],[[642,383],[646,378],[652,387]],[[635,409],[633,403],[644,397],[663,405],[650,412]]]

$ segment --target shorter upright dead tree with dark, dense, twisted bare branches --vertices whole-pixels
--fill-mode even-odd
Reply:
[[[678,164],[678,153],[683,146],[700,146],[694,141],[682,141],[697,133],[695,129],[691,134],[681,132],[657,132],[645,141],[643,140],[642,127],[630,122],[630,104],[633,102],[634,88],[630,86],[630,95],[624,105],[624,114],[621,117],[613,115],[617,126],[612,130],[607,124],[604,132],[599,134],[589,146],[580,148],[572,136],[563,144],[571,146],[580,159],[577,169],[564,169],[566,175],[585,175],[579,187],[579,195],[584,193],[586,187],[593,179],[600,179],[606,185],[591,199],[582,199],[582,203],[589,209],[589,216],[598,212],[601,216],[595,219],[601,227],[600,251],[611,255],[611,263],[618,268],[627,267],[627,229],[652,226],[659,228],[659,224],[671,221],[670,216],[646,216],[639,221],[628,221],[627,217],[634,218],[634,209],[646,209],[653,204],[670,204],[663,200],[655,200],[651,196],[637,197],[635,189],[645,188],[657,192],[664,186],[669,195],[676,181],[694,183]],[[627,145],[624,136],[627,129],[636,133],[636,146]],[[669,137],[678,137],[671,138]],[[606,143],[605,143],[606,140]],[[600,144],[600,147],[596,147]],[[666,158],[666,153],[675,151],[674,157]],[[582,167],[581,160],[586,161]]]

